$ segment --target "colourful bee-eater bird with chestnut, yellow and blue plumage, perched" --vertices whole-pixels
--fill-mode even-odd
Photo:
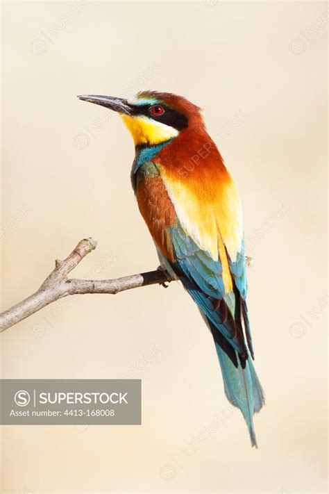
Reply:
[[[78,96],[119,113],[135,143],[131,183],[160,267],[179,280],[216,347],[226,397],[258,447],[264,391],[253,365],[242,205],[201,108],[170,92]]]

